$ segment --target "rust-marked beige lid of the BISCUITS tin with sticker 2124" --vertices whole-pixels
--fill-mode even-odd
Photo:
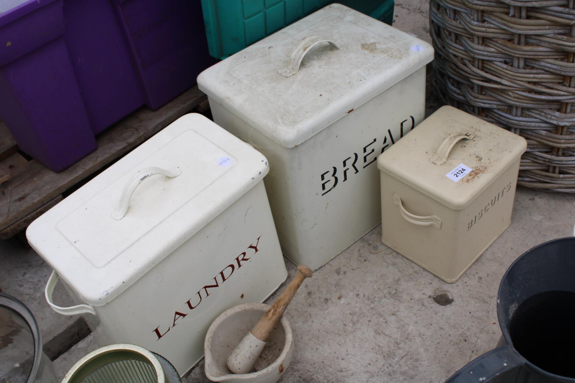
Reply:
[[[526,148],[523,137],[443,106],[381,154],[377,167],[445,206],[461,210]]]

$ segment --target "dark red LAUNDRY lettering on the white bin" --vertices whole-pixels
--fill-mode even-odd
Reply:
[[[218,287],[221,287],[221,285],[232,276],[232,274],[233,274],[233,272],[235,272],[235,270],[239,269],[241,266],[246,265],[246,262],[249,261],[250,258],[252,256],[254,256],[254,254],[259,251],[258,245],[259,245],[259,239],[260,238],[262,238],[261,235],[256,239],[255,242],[250,243],[250,246],[246,247],[248,249],[247,253],[241,252],[239,256],[232,258],[233,261],[235,261],[235,262],[232,262],[231,264],[225,266],[219,273],[217,273],[216,276],[212,278],[212,280],[214,281],[213,284],[211,284],[211,283],[205,284],[203,287],[201,287],[198,290],[197,293],[194,293],[194,296],[191,297],[189,300],[187,300],[185,302],[185,304],[183,305],[182,308],[184,308],[185,310],[178,311],[178,310],[181,310],[182,308],[175,310],[173,320],[168,322],[168,323],[171,323],[171,326],[167,326],[167,329],[165,331],[163,330],[163,328],[166,328],[166,327],[163,327],[163,326],[158,326],[158,327],[154,328],[154,330],[152,332],[158,337],[158,339],[156,339],[156,341],[159,341],[172,328],[174,328],[177,324],[176,323],[177,321],[178,321],[178,323],[180,323],[182,320],[185,320],[186,316],[188,314],[190,314],[190,311],[194,310],[194,308],[198,307],[198,305],[200,305],[200,303],[202,303],[202,296],[205,299],[205,298],[208,298],[210,293],[217,292],[216,289]],[[247,257],[248,253],[250,254],[250,258]],[[208,290],[208,289],[210,289],[210,290]],[[185,312],[185,311],[187,311],[187,312]]]

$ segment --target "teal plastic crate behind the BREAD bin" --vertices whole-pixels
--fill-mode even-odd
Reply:
[[[202,0],[210,55],[225,59],[331,3],[392,25],[393,0]]]

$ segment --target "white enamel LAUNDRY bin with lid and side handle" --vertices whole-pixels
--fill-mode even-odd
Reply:
[[[209,119],[179,118],[29,226],[55,270],[48,303],[97,319],[102,342],[145,347],[186,373],[218,315],[263,301],[287,277],[268,169]],[[52,302],[58,278],[75,307]]]

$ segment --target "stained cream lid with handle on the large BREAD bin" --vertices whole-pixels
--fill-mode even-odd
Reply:
[[[417,37],[332,4],[206,69],[198,87],[292,148],[424,67],[433,54]]]

